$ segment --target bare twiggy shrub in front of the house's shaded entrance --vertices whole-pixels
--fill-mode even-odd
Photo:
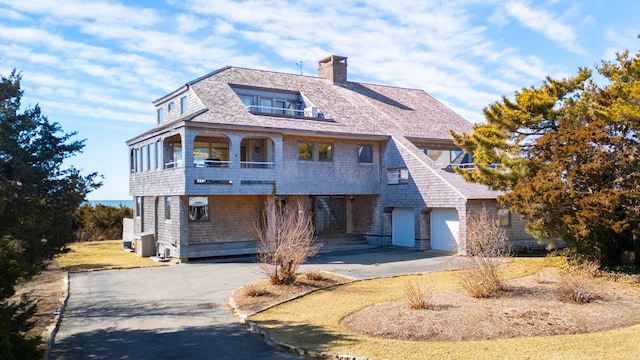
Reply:
[[[282,207],[267,201],[262,221],[254,227],[260,269],[273,285],[293,284],[300,265],[320,248],[305,205],[300,198]]]

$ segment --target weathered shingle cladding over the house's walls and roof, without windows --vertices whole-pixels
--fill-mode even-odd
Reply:
[[[252,114],[234,92],[232,86],[237,89],[237,85],[250,86],[258,93],[268,93],[268,89],[294,92],[292,96],[299,94],[304,106],[317,107],[324,118]],[[188,99],[186,114],[180,114],[183,96]],[[171,112],[170,102],[175,105]],[[180,139],[183,158],[178,160],[182,164],[163,168],[172,152],[165,146],[163,164],[157,169],[131,173],[130,193],[144,196],[144,216],[135,221],[136,233],[157,229],[159,250],[170,248],[172,256],[255,252],[251,228],[260,217],[264,201],[274,194],[287,195],[290,200],[308,200],[314,195],[344,197],[345,231],[371,235],[382,239],[381,243],[390,239],[393,208],[410,207],[417,248],[428,248],[430,211],[455,209],[458,246],[464,254],[468,201],[495,201],[500,194],[440,169],[412,143],[450,148],[450,130],[472,131],[468,121],[422,90],[358,82],[334,84],[312,76],[227,67],[186,84],[154,105],[163,109],[163,123],[128,141],[130,150]],[[228,139],[228,166],[194,166],[197,136]],[[240,157],[246,138],[267,139],[267,161],[273,166],[243,168]],[[298,159],[300,141],[314,144],[312,160]],[[331,161],[319,161],[320,143],[333,145]],[[372,146],[372,163],[358,162],[358,145]],[[406,184],[387,184],[388,169],[405,168],[409,172]],[[164,219],[165,196],[172,199],[170,220]],[[209,199],[208,221],[188,220],[189,196]],[[157,220],[153,218],[156,214]],[[522,235],[523,224],[512,217],[509,231],[514,244],[530,240]]]

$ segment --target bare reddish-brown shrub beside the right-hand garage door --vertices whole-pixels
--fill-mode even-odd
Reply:
[[[475,298],[491,297],[504,289],[499,258],[510,253],[506,230],[485,207],[467,217],[467,254],[473,266],[462,276],[462,286]]]

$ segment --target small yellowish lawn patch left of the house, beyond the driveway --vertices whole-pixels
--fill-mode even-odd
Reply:
[[[120,240],[73,243],[69,249],[56,261],[63,270],[70,272],[166,265],[122,250]]]

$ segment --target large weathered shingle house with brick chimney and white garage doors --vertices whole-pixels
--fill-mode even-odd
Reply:
[[[422,90],[349,81],[347,58],[303,76],[224,67],[156,100],[157,125],[127,142],[134,232],[161,257],[255,252],[266,201],[309,203],[318,236],[465,253],[466,216],[497,192],[451,171],[471,124]],[[535,241],[533,241],[535,244]]]

